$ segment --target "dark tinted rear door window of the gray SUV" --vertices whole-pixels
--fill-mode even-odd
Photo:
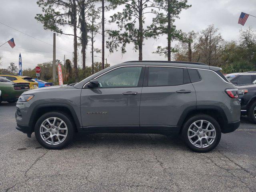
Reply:
[[[183,68],[149,67],[148,86],[175,86],[188,83]],[[186,78],[185,78],[186,79]]]

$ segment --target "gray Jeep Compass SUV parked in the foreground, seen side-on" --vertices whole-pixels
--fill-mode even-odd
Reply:
[[[24,92],[17,129],[50,149],[74,132],[180,134],[188,148],[208,152],[240,124],[238,90],[221,68],[191,62],[130,61],[77,84]]]

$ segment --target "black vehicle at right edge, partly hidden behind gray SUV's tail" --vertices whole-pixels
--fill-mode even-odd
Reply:
[[[256,84],[237,86],[241,115],[247,115],[251,122],[256,124]]]

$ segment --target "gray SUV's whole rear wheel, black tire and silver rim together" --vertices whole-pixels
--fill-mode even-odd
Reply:
[[[220,142],[220,125],[211,116],[198,114],[186,121],[182,138],[186,146],[195,152],[211,151]]]

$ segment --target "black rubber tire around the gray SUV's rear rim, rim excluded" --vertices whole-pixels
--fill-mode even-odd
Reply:
[[[215,137],[215,140],[212,142],[212,144],[210,144],[210,146],[208,147],[205,147],[205,148],[199,148],[199,147],[196,147],[194,146],[189,138],[188,138],[188,129],[190,127],[190,125],[193,123],[193,122],[196,122],[197,120],[206,120],[208,122],[210,122],[215,130],[216,130],[216,137]],[[198,137],[199,138],[199,137]],[[208,116],[208,115],[205,115],[205,114],[198,114],[198,115],[195,115],[195,116],[192,116],[190,117],[186,122],[185,124],[183,125],[183,128],[182,128],[182,139],[184,140],[186,146],[188,148],[190,148],[192,151],[194,152],[200,152],[200,153],[205,153],[205,152],[209,152],[211,150],[213,150],[220,142],[220,138],[221,138],[221,129],[220,129],[220,125],[218,124],[218,122],[212,118],[211,116]]]

